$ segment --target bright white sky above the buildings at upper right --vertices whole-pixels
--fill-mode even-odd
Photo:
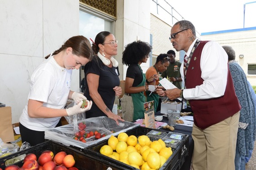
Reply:
[[[178,20],[181,17],[177,13],[191,21],[199,33],[239,29],[243,25],[256,27],[256,0],[158,0],[158,3]],[[157,14],[156,4],[151,0],[151,13],[172,25],[172,17],[166,11],[158,7]]]

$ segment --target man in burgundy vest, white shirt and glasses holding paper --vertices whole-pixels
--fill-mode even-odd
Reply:
[[[200,41],[194,25],[175,23],[170,37],[176,51],[186,52],[180,69],[185,89],[158,87],[157,93],[171,100],[190,102],[194,113],[192,138],[194,170],[234,170],[234,157],[241,106],[234,91],[228,56],[216,42]]]

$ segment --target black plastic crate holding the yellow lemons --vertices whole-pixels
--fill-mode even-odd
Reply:
[[[126,133],[128,136],[141,136],[146,135],[150,132],[150,128],[146,127],[136,127],[135,129],[129,130]],[[137,170],[137,168],[133,166],[129,166],[123,162],[116,161],[110,157],[102,155],[100,153],[100,149],[103,145],[107,144],[107,140],[104,140],[98,144],[91,145],[85,149],[83,149],[84,153],[91,155],[92,157],[101,160],[101,161],[108,161],[113,164],[110,166],[112,169],[116,166],[121,167],[120,170]],[[185,162],[185,158],[188,156],[188,149],[189,149],[189,135],[185,135],[185,138],[181,141],[181,144],[178,145],[176,149],[172,149],[172,155],[169,159],[163,164],[163,166],[159,170],[179,170],[182,164]]]

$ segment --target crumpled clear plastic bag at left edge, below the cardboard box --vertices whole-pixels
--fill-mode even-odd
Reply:
[[[0,157],[5,157],[9,154],[16,153],[19,151],[18,144],[7,144],[0,138]]]

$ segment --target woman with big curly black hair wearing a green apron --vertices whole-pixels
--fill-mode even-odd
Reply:
[[[144,118],[144,91],[148,90],[148,84],[157,79],[153,75],[146,80],[142,72],[141,63],[146,63],[152,47],[142,41],[133,42],[125,47],[122,62],[128,66],[125,78],[125,93],[121,101],[123,119],[125,121],[135,121]]]

